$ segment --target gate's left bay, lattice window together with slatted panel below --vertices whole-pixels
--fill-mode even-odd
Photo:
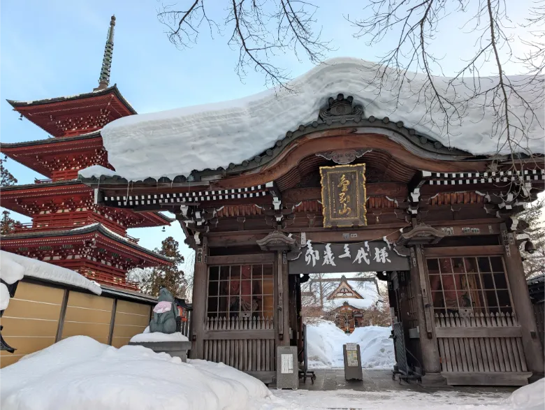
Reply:
[[[209,268],[203,359],[270,383],[276,368],[273,263],[237,258],[242,263]]]

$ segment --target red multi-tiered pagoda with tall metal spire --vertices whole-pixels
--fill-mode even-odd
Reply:
[[[159,212],[133,212],[94,203],[94,191],[77,180],[93,165],[113,169],[103,126],[136,111],[116,85],[109,87],[115,17],[108,29],[99,87],[41,101],[10,101],[13,109],[52,138],[0,144],[0,152],[47,179],[0,188],[0,206],[32,218],[0,236],[0,249],[75,270],[100,284],[138,289],[127,270],[166,265],[170,259],[138,245],[128,228],[169,225]]]

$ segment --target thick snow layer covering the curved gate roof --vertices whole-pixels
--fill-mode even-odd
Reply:
[[[423,85],[422,75],[414,74],[398,99],[388,87],[375,86],[378,68],[360,59],[331,59],[293,80],[289,87],[294,92],[270,89],[226,103],[120,118],[104,127],[104,145],[119,182],[185,182],[240,173],[266,165],[305,134],[342,128],[356,129],[362,138],[365,133],[380,133],[414,154],[439,161],[477,160],[476,155],[487,159],[496,154],[497,140],[490,136],[495,120],[491,110],[470,112],[463,124],[449,125],[446,135],[440,127],[441,115],[435,112],[439,108],[431,108],[438,126],[430,123],[426,105],[415,92]],[[487,85],[493,81],[481,79]],[[442,91],[453,98],[455,92],[463,95],[471,87],[469,81],[456,91],[444,85]],[[335,103],[339,94],[351,107],[346,112],[328,112],[328,98]],[[545,116],[545,107],[536,114]],[[530,138],[530,149],[545,152],[539,125],[532,124],[528,130],[530,137],[539,134]],[[96,182],[101,176],[87,173],[82,179]]]

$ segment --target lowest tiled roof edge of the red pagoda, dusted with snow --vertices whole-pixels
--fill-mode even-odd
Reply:
[[[40,230],[40,231],[10,233],[8,235],[0,235],[0,242],[3,240],[27,239],[27,238],[36,238],[36,237],[42,238],[42,237],[85,235],[87,233],[100,233],[108,237],[109,239],[114,240],[115,242],[122,242],[122,244],[128,247],[131,247],[133,249],[136,249],[137,251],[143,252],[144,254],[154,256],[166,262],[173,261],[173,259],[169,258],[168,256],[157,254],[156,252],[151,251],[150,249],[142,247],[139,244],[136,244],[134,242],[131,242],[130,240],[123,237],[122,235],[119,235],[113,232],[112,230],[106,228],[106,226],[103,226],[103,224],[100,224],[98,222],[96,224],[81,226],[79,228],[71,228],[71,229],[63,229],[63,230],[45,230],[45,231]]]

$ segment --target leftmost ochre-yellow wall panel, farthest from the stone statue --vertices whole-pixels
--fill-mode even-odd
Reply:
[[[0,318],[3,338],[17,350],[13,354],[0,351],[0,367],[54,344],[63,296],[64,289],[19,283]]]

